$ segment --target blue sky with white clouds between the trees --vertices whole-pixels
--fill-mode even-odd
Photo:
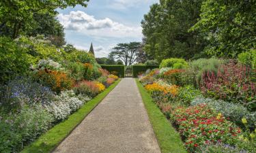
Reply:
[[[118,43],[141,41],[141,20],[158,0],[90,0],[87,7],[76,5],[59,12],[66,41],[89,50],[94,45],[96,57],[108,56]]]

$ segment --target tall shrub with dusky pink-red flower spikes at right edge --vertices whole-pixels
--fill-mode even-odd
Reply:
[[[244,65],[229,63],[218,69],[218,74],[203,73],[201,90],[208,97],[242,103],[255,109],[255,82],[251,80],[251,69]]]

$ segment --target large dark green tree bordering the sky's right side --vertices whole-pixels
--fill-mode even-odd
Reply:
[[[188,32],[199,18],[203,0],[161,0],[153,4],[141,22],[144,50],[158,62],[164,58],[190,59],[203,51],[205,42],[198,32]]]

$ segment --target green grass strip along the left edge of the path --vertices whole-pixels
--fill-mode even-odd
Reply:
[[[91,112],[106,97],[106,95],[117,86],[120,82],[120,79],[117,80],[114,84],[106,88],[99,95],[91,99],[81,109],[74,114],[70,115],[67,120],[53,126],[52,129],[44,133],[44,135],[40,136],[38,140],[31,143],[29,146],[25,147],[25,149],[21,153],[46,153],[53,151],[63,139],[68,137],[68,135],[78,126],[83,119]]]

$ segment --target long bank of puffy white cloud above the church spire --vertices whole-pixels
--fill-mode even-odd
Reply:
[[[120,1],[120,0],[118,0]],[[142,37],[141,27],[128,27],[110,18],[96,19],[85,12],[72,11],[57,16],[68,31],[77,31],[90,36],[100,37]]]

